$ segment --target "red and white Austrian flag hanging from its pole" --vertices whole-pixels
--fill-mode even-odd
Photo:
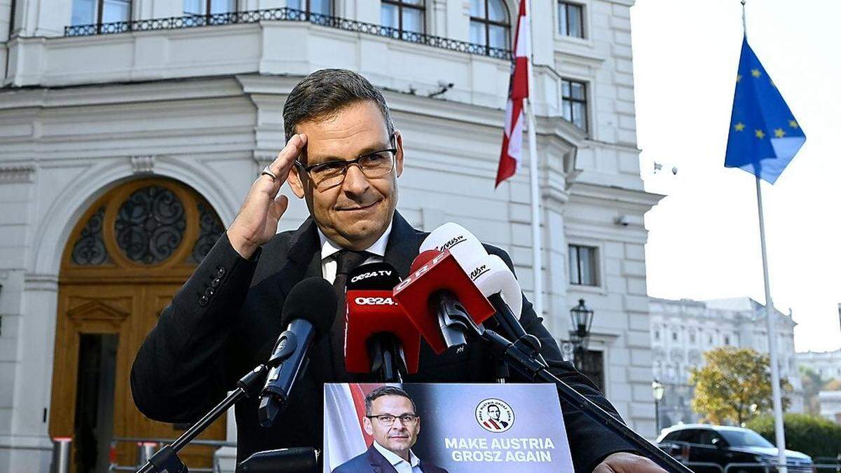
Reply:
[[[496,185],[516,173],[523,148],[523,99],[528,97],[528,60],[532,56],[529,44],[530,28],[526,2],[520,0],[517,29],[514,35],[514,64],[508,86],[508,105],[505,107],[505,132],[502,136],[500,167],[496,170]]]

